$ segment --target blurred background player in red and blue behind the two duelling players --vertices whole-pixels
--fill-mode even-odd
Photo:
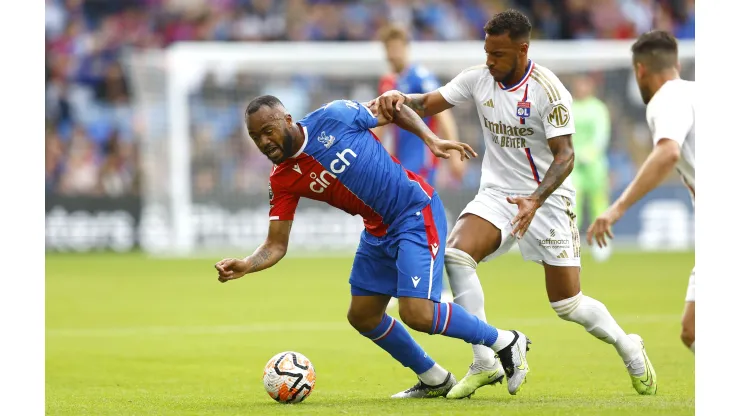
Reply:
[[[385,47],[385,56],[393,72],[380,79],[379,94],[389,90],[399,90],[407,94],[426,93],[439,88],[439,81],[426,68],[413,64],[409,59],[409,34],[401,26],[389,25],[379,33],[379,39]],[[457,125],[450,111],[443,111],[434,117],[424,118],[429,128],[446,140],[458,141]],[[418,137],[396,125],[380,127],[376,130],[379,137],[384,139],[386,148],[395,156],[406,169],[424,178],[428,184],[436,186],[437,168],[439,159],[429,151]],[[465,173],[465,164],[458,158],[447,159],[450,173],[455,181],[462,181]],[[442,300],[452,302],[452,291],[449,282],[445,279],[442,291]],[[397,304],[392,299],[390,306]]]

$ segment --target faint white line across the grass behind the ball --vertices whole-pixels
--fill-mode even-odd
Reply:
[[[620,324],[676,324],[681,315],[625,315],[615,317]],[[531,327],[570,325],[555,316],[551,318],[502,319],[503,328],[516,328],[526,331]],[[499,325],[493,318],[493,325]],[[208,335],[208,334],[248,334],[256,332],[319,332],[319,331],[354,331],[347,322],[274,322],[271,324],[220,325],[220,326],[140,326],[126,328],[58,328],[47,329],[46,336],[52,338],[111,338],[147,335]]]

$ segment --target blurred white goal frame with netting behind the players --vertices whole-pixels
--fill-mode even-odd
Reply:
[[[630,45],[534,41],[530,48],[530,57],[554,71],[567,87],[582,75],[596,81],[597,95],[611,112],[613,192],[624,188],[651,148]],[[441,83],[485,59],[481,42],[413,43],[411,55]],[[680,44],[680,56],[682,76],[693,80],[693,41]],[[388,71],[377,42],[179,43],[163,51],[134,52],[127,65],[143,129],[140,243],[149,253],[167,255],[219,251],[242,256],[264,241],[271,163],[245,131],[243,113],[251,98],[275,95],[301,118],[334,99],[375,97],[378,81]],[[452,112],[460,139],[482,154],[484,137],[475,107],[458,106]],[[477,191],[480,160],[468,165],[461,183],[452,181],[446,170],[442,163],[436,188],[451,226]],[[633,210],[615,228],[620,241],[647,248],[693,244],[688,196],[679,185],[659,191],[654,202],[660,209],[653,205]],[[360,218],[301,200],[291,251],[351,252],[361,230]]]

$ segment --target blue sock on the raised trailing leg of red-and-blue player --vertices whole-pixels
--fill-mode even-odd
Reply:
[[[435,303],[430,334],[458,338],[471,344],[493,345],[498,330],[456,303]]]

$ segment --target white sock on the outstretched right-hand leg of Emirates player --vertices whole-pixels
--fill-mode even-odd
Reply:
[[[603,303],[579,292],[572,298],[550,303],[559,317],[581,324],[589,334],[612,344],[625,364],[640,360],[641,348],[617,324]],[[632,370],[630,370],[632,372]],[[634,369],[640,375],[645,372],[644,363]]]

